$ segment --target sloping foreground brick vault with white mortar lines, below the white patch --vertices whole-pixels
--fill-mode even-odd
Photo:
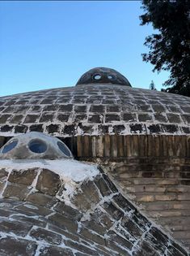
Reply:
[[[0,254],[189,255],[141,215],[101,169],[67,198],[66,184],[48,169],[4,168],[0,174]]]

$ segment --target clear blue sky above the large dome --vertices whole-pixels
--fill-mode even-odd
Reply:
[[[141,53],[152,26],[140,1],[0,2],[0,95],[75,85],[92,67],[112,67],[133,87],[161,89]]]

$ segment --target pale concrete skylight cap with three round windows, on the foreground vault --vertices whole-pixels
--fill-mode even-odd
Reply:
[[[0,159],[60,159],[73,158],[69,148],[56,137],[42,132],[27,132],[0,149]]]

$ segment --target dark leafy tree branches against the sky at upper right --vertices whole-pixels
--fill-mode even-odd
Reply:
[[[190,96],[190,0],[142,0],[142,8],[141,25],[158,31],[146,37],[143,61],[171,72],[163,91]]]

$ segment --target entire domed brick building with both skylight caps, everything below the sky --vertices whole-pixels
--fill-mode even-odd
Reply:
[[[0,254],[189,256],[189,124],[190,98],[102,67],[0,98]]]

